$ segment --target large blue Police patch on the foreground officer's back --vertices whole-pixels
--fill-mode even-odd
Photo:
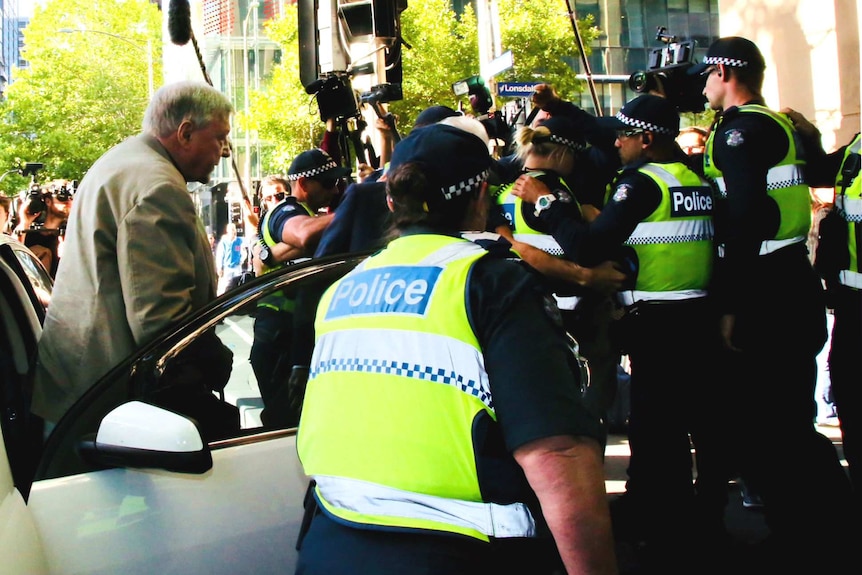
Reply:
[[[398,313],[425,315],[442,268],[389,266],[349,275],[338,285],[326,319]]]

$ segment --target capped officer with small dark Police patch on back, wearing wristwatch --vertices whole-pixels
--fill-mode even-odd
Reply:
[[[693,544],[723,529],[726,480],[707,470],[720,441],[708,377],[718,348],[707,298],[711,190],[679,161],[679,116],[667,99],[639,96],[604,122],[617,130],[623,167],[582,243],[625,244],[637,262],[633,284],[619,294],[632,371],[631,458],[615,528],[646,543],[649,568],[677,572],[692,560]],[[689,435],[698,451],[698,505]]]

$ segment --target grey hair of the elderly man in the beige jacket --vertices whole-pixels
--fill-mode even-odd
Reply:
[[[159,88],[153,95],[141,129],[159,138],[169,136],[188,120],[200,128],[215,119],[229,118],[233,104],[227,97],[204,82],[175,82]]]

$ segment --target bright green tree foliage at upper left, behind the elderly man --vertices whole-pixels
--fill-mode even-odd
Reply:
[[[162,77],[161,23],[147,0],[37,5],[24,30],[30,67],[14,72],[0,103],[0,168],[41,162],[40,180],[80,179],[107,149],[139,132],[148,102],[148,39],[154,78]],[[23,183],[10,176],[2,185],[17,191]]]

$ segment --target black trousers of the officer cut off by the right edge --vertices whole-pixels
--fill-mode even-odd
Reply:
[[[862,515],[862,291],[831,289],[835,311],[829,377],[841,422],[844,458],[850,467],[856,513]]]

